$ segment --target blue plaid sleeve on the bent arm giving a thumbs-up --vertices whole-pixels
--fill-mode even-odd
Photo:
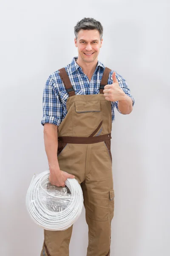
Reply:
[[[109,84],[113,84],[113,78],[112,78],[113,72],[116,72],[116,71],[111,71],[110,77],[109,77],[110,81],[108,81],[110,82]],[[118,80],[119,86],[122,88],[122,90],[126,93],[126,95],[128,95],[132,99],[133,106],[134,106],[135,100],[133,99],[133,96],[130,94],[130,89],[127,85],[126,80],[122,76],[120,76],[118,73],[116,73],[116,79]],[[119,111],[118,101],[115,102],[115,105],[116,105],[116,109]],[[121,113],[121,111],[119,111],[119,113]]]

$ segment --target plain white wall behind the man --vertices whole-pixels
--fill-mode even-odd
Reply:
[[[169,6],[168,6],[169,5]],[[111,256],[170,255],[170,36],[166,0],[0,3],[0,255],[38,256],[43,230],[28,216],[34,172],[48,169],[42,91],[48,76],[77,55],[74,26],[104,26],[99,60],[128,82],[136,100],[112,128],[115,216]],[[85,212],[74,225],[71,256],[85,256]]]

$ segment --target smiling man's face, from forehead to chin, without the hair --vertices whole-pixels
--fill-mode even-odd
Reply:
[[[99,55],[102,47],[102,40],[100,40],[99,31],[83,30],[78,33],[77,40],[74,39],[75,46],[78,48],[78,57],[85,62],[93,62]]]

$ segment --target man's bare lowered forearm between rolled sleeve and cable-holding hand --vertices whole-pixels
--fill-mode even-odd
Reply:
[[[57,159],[58,150],[58,127],[52,124],[44,125],[44,144],[45,152],[48,158],[50,172],[59,171],[59,163]]]

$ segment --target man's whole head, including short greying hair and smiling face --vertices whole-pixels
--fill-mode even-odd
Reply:
[[[93,18],[84,18],[74,27],[75,46],[78,47],[78,58],[85,62],[93,62],[102,47],[103,27]]]

